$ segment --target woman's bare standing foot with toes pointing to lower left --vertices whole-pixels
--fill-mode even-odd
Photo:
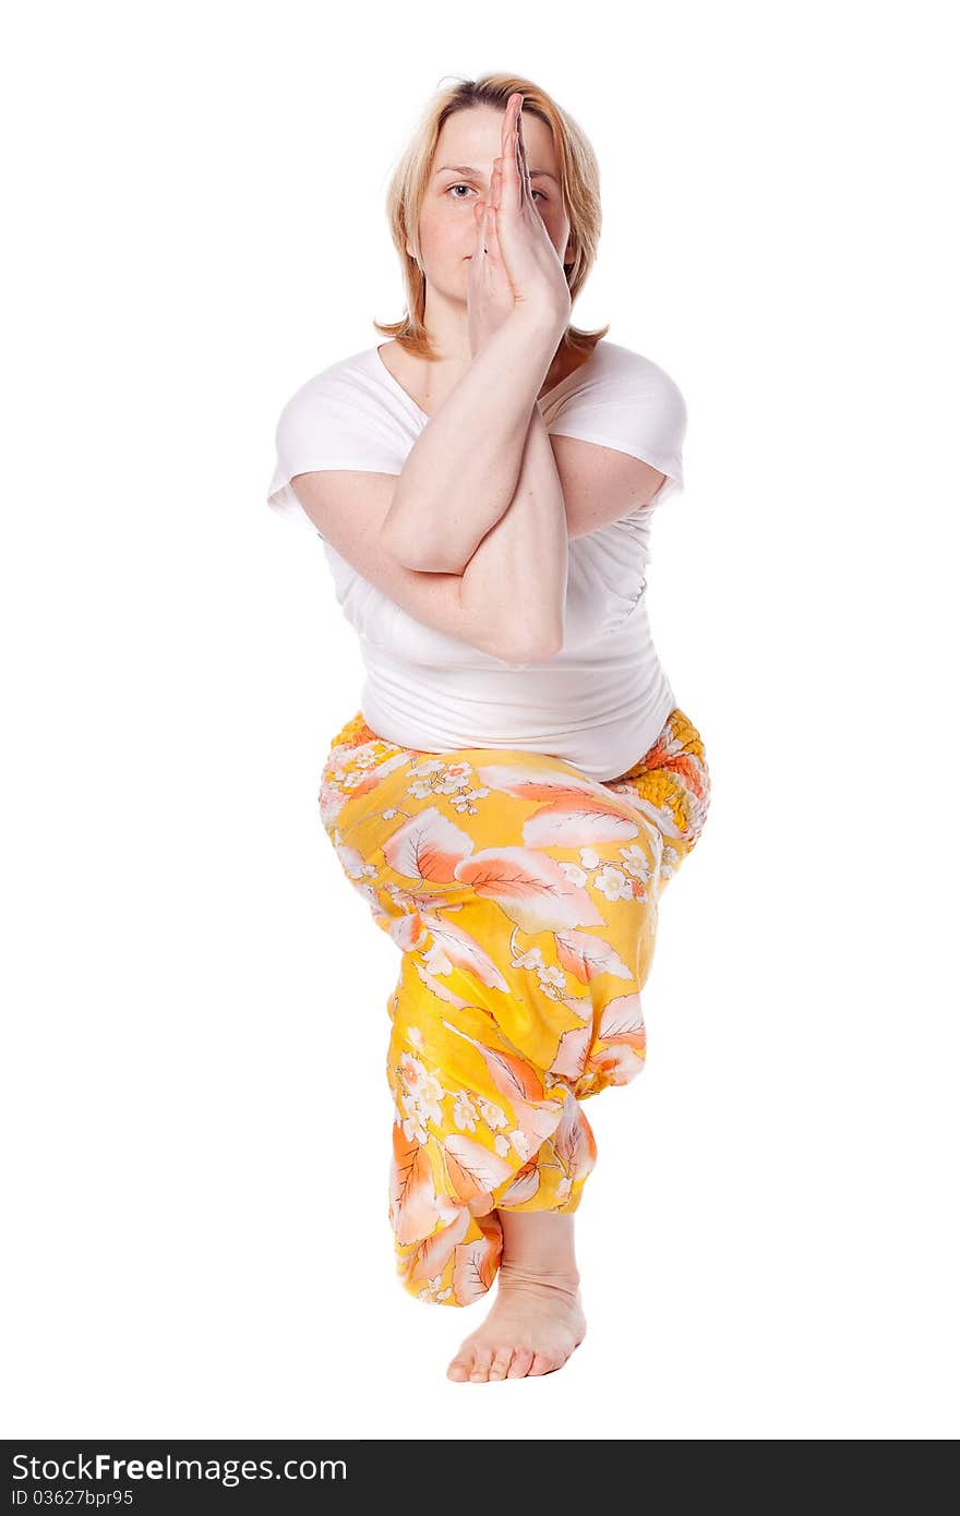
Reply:
[[[547,1272],[502,1263],[490,1314],[464,1340],[449,1380],[482,1384],[561,1369],[584,1340],[587,1319],[575,1270]]]

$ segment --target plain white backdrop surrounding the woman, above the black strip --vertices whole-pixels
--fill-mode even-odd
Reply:
[[[957,1434],[948,14],[12,23],[5,1436]],[[402,312],[384,197],[425,102],[490,68],[599,156],[573,320],[687,399],[649,597],[714,797],[648,1069],[588,1105],[587,1339],[472,1386],[485,1307],[394,1278],[399,958],[317,811],[359,658],[265,491],[287,397]]]

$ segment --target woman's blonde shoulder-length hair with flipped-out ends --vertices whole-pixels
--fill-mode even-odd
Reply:
[[[560,162],[561,203],[570,220],[570,244],[573,262],[564,264],[570,302],[576,300],[587,274],[596,261],[601,240],[601,171],[596,155],[576,121],[563,111],[551,96],[519,74],[482,74],[479,79],[463,79],[438,89],[420,117],[414,136],[397,162],[387,191],[387,218],[394,247],[400,255],[403,285],[406,288],[406,314],[399,321],[373,321],[378,332],[393,338],[408,353],[434,359],[423,314],[426,309],[426,274],[419,258],[420,206],[426,194],[429,170],[437,149],[437,139],[447,117],[456,111],[469,111],[488,105],[497,111],[507,109],[510,96],[519,89],[523,94],[523,109],[538,117],[549,129]],[[417,249],[411,258],[406,241]],[[607,337],[610,324],[595,332],[567,326],[561,346],[588,358],[601,338]]]

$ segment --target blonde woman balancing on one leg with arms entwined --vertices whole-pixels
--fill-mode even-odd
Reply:
[[[400,1278],[463,1307],[499,1273],[447,1369],[475,1383],[582,1340],[582,1101],[643,1067],[658,901],[710,803],[642,573],[685,406],[608,327],[570,326],[599,220],[590,146],[549,96],[443,91],[391,188],[409,312],[291,397],[270,485],[325,540],[361,643],[320,813],[402,954]]]

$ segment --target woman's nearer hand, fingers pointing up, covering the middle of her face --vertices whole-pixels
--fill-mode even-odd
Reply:
[[[546,309],[564,326],[570,318],[570,288],[534,200],[520,112],[523,96],[507,102],[500,146],[493,165],[491,200],[497,261],[513,288],[514,305]],[[490,247],[491,244],[487,243]]]

